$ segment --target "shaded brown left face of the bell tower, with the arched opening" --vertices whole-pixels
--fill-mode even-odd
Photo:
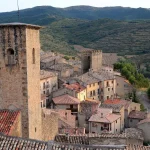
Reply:
[[[8,49],[14,50],[15,65],[8,65]],[[26,33],[22,26],[0,26],[0,107],[18,108],[22,115],[22,136],[29,137]]]

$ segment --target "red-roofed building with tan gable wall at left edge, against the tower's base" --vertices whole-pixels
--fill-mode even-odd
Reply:
[[[0,133],[21,137],[21,112],[19,110],[0,110]]]

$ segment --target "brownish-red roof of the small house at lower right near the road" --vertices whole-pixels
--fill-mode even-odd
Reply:
[[[128,117],[133,119],[145,119],[146,113],[142,111],[132,110]]]

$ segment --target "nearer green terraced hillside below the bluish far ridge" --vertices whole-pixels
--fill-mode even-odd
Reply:
[[[150,21],[62,19],[41,31],[42,48],[68,53],[71,46],[102,49],[121,55],[150,53]],[[61,45],[61,48],[60,48]]]

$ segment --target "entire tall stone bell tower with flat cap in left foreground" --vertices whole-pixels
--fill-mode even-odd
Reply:
[[[22,137],[39,140],[40,28],[0,24],[0,109],[20,109]]]

